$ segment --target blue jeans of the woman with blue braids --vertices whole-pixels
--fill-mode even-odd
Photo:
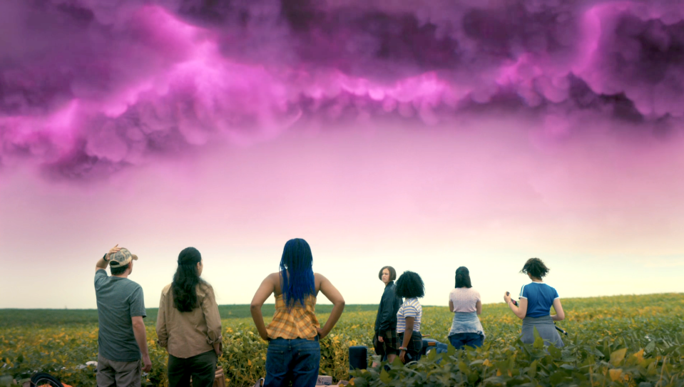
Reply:
[[[307,339],[270,339],[266,352],[264,387],[313,387],[318,380],[321,346],[318,337]]]

